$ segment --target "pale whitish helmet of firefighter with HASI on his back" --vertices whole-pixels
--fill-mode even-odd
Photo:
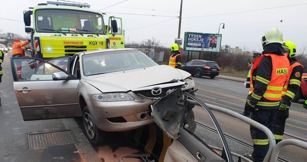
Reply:
[[[282,32],[278,28],[272,28],[264,33],[261,39],[262,46],[269,43],[282,43]]]

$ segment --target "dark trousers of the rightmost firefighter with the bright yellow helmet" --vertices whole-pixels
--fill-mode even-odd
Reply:
[[[289,118],[289,109],[278,111],[277,118],[274,122],[274,137],[276,144],[283,139],[287,118]]]

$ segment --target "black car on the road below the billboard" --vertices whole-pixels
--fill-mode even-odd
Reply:
[[[214,61],[191,60],[181,66],[181,69],[195,77],[209,76],[213,79],[219,75],[219,66]]]

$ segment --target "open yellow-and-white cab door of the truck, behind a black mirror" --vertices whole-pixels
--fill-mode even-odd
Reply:
[[[119,17],[110,16],[106,33],[110,40],[110,48],[124,48],[124,31],[122,28],[122,20]]]

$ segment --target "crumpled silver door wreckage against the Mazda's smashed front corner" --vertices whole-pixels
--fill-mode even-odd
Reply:
[[[179,104],[182,97],[181,91],[162,98],[152,106],[155,123],[173,139],[167,148],[163,162],[233,162],[224,134],[212,112],[195,96],[187,93],[184,96],[185,101],[188,98],[201,106],[186,110],[186,106],[183,106],[186,104]],[[206,131],[202,129],[205,123],[197,119],[194,112],[197,112],[201,118],[204,118],[205,114],[209,116],[218,132],[218,137],[215,139],[221,140],[219,149],[204,140],[210,137],[205,136]],[[212,141],[215,142],[215,140]]]

